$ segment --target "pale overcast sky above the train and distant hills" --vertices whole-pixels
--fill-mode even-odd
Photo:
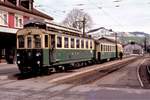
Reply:
[[[93,19],[93,28],[150,33],[150,0],[34,0],[35,8],[62,22],[73,8]],[[118,2],[119,1],[119,2]]]

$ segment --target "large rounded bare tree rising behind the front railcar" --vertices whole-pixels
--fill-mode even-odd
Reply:
[[[77,29],[83,29],[83,21],[85,18],[85,29],[88,30],[92,26],[92,19],[91,17],[81,11],[80,9],[73,9],[68,13],[67,17],[63,21],[63,24],[69,27],[74,27]]]

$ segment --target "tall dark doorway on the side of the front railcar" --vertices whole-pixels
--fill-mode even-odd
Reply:
[[[55,35],[50,35],[50,63],[53,63],[56,61],[56,42],[55,42]]]

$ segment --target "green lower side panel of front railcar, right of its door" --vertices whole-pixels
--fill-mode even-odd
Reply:
[[[58,62],[85,61],[94,57],[93,50],[57,49],[56,60]]]

